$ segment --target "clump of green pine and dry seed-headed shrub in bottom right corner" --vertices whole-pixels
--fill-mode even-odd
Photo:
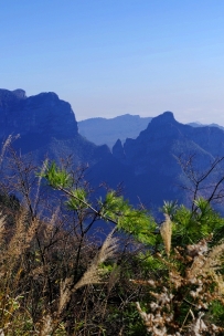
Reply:
[[[148,270],[148,281],[132,282],[148,286],[151,296],[147,311],[142,308],[145,301],[137,304],[137,309],[152,336],[160,335],[162,328],[161,335],[177,332],[223,335],[224,332],[224,260],[221,258],[224,220],[204,199],[198,199],[194,204],[190,210],[167,202],[162,209],[166,221],[160,229],[163,243],[139,255],[142,267]]]

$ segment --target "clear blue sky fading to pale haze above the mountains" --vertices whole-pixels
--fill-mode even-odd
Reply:
[[[224,1],[0,0],[0,87],[224,125]]]

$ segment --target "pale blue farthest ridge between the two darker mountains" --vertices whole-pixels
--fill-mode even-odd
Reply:
[[[111,148],[117,139],[137,138],[147,128],[151,117],[125,114],[115,118],[90,118],[78,122],[79,134],[96,145],[106,144]]]

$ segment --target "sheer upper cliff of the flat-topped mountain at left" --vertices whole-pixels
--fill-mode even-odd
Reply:
[[[0,90],[0,136],[18,133],[71,138],[77,123],[71,105],[55,93],[26,97],[23,90]]]

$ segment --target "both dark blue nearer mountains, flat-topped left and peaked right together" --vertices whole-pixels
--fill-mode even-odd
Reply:
[[[131,119],[127,115],[115,119],[119,124],[127,118]],[[45,156],[58,160],[72,155],[75,165],[89,165],[87,178],[94,186],[106,182],[116,189],[121,183],[125,198],[149,209],[158,209],[163,200],[188,203],[192,197],[189,188],[193,191],[193,186],[184,165],[186,172],[191,175],[193,169],[200,178],[215,158],[224,156],[224,132],[183,125],[171,112],[149,122],[136,138],[117,139],[110,151],[108,146],[97,146],[78,133],[71,105],[55,93],[26,97],[23,90],[0,90],[0,139],[3,143],[8,136],[19,134],[13,147],[21,156],[32,153],[40,164]],[[96,136],[98,132],[96,128]],[[222,170],[215,169],[213,180],[206,179],[205,183],[215,182],[221,175]],[[209,192],[205,185],[200,187],[200,192]]]

